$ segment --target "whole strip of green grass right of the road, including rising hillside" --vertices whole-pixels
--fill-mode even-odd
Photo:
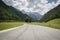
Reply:
[[[55,28],[55,29],[60,29],[60,18],[51,20],[51,21],[46,22],[46,23],[32,22],[31,24],[47,26],[47,27],[51,27],[51,28]]]

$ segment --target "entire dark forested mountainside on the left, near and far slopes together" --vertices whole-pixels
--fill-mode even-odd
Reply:
[[[0,0],[0,21],[24,21],[25,17],[28,17],[28,15],[23,14],[21,11],[11,6],[7,6],[2,0]]]

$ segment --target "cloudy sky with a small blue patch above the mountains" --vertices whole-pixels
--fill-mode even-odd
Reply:
[[[49,10],[60,4],[60,0],[3,0],[8,6],[20,11],[37,12],[44,15]]]

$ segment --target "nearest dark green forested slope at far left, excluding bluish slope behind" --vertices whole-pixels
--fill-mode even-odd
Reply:
[[[1,0],[0,0],[0,20],[11,20],[13,18],[18,19],[17,15],[13,14],[9,6],[5,5]]]

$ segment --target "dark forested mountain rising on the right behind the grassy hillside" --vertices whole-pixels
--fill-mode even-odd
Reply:
[[[56,18],[60,18],[60,5],[47,12],[40,20],[40,22],[47,22]]]

